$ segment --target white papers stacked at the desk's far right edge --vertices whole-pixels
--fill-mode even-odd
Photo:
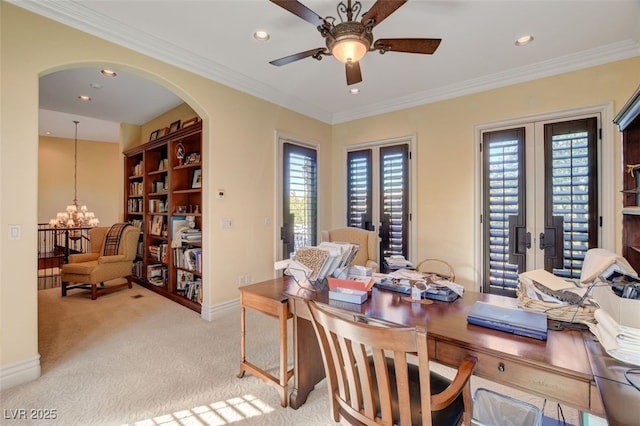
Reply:
[[[587,323],[604,350],[617,360],[640,365],[640,329],[618,324],[605,310],[594,312],[596,324]]]

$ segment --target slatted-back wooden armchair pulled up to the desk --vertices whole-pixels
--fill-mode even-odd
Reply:
[[[450,382],[429,370],[426,330],[356,322],[313,301],[309,310],[335,422],[471,424],[475,358],[464,359]]]

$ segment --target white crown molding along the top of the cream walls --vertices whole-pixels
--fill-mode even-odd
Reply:
[[[561,58],[539,62],[537,64],[505,70],[481,78],[462,81],[446,87],[422,91],[409,96],[367,105],[364,108],[355,108],[332,114],[301,99],[283,96],[280,91],[269,85],[263,84],[200,55],[189,52],[170,42],[160,40],[138,29],[122,25],[114,19],[92,11],[80,2],[45,2],[39,0],[5,1],[327,124],[339,124],[360,118],[399,111],[640,56],[640,43],[630,39]]]

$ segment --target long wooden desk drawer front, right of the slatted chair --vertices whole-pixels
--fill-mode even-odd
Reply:
[[[437,342],[436,344],[435,358],[445,364],[456,366],[468,354],[478,358],[474,374],[479,377],[589,410],[590,384],[587,381],[561,375],[542,367],[469,351],[449,343]]]

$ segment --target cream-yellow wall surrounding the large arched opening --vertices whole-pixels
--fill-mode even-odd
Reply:
[[[180,96],[203,118],[203,220],[208,224],[203,310],[238,298],[239,271],[254,281],[273,276],[275,131],[318,143],[319,161],[325,165],[319,174],[326,180],[331,173],[330,126],[13,5],[3,2],[0,7],[0,386],[39,374],[36,224],[42,74],[78,66],[112,67]],[[121,179],[122,173],[114,176]],[[226,191],[224,200],[211,195],[220,188]],[[330,198],[328,187],[321,191],[324,199]],[[328,202],[321,205],[320,217],[329,217],[330,208]],[[222,218],[230,218],[233,227],[222,229]],[[9,224],[22,227],[20,240],[8,239]]]

